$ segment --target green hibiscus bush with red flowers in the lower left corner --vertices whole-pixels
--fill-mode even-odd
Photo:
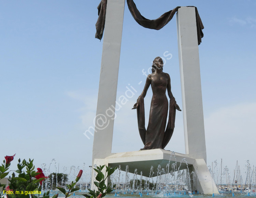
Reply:
[[[15,156],[15,155],[14,155]],[[14,156],[6,156],[6,163],[3,160],[3,164],[0,166],[0,178],[4,178],[9,174],[8,169],[10,167],[10,162],[13,160]],[[8,162],[8,163],[7,163]],[[0,198],[3,198],[3,192],[5,191],[7,198],[39,198],[42,190],[42,181],[47,178],[44,176],[42,169],[37,168],[36,172],[33,165],[33,160],[26,161],[25,159],[21,162],[18,160],[17,170],[12,173],[12,176],[9,177],[9,186],[6,187],[5,184],[0,183],[0,187],[2,187],[2,192],[0,193]],[[25,169],[25,170],[24,170]],[[15,175],[17,174],[17,176]],[[68,184],[68,192],[64,188],[57,187],[63,194],[65,194],[66,198],[69,197],[71,192],[77,191],[80,188],[75,188],[77,181],[82,176],[83,171],[80,170],[77,175],[75,182],[72,181],[71,184]],[[56,174],[55,174],[56,175]],[[57,174],[57,178],[64,178],[65,182],[68,180],[67,174]],[[55,178],[56,183],[56,178]],[[49,198],[49,191],[45,192],[41,195],[40,198]],[[52,198],[57,198],[59,194],[54,195]]]

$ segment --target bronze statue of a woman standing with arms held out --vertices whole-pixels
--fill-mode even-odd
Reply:
[[[139,96],[137,103],[135,103],[132,108],[137,109],[140,137],[145,145],[141,150],[165,148],[170,141],[174,130],[175,111],[176,109],[181,111],[171,92],[170,76],[162,71],[163,60],[161,57],[156,57],[152,65],[152,74],[147,76],[144,90]],[[151,100],[150,116],[146,130],[144,97],[146,96],[150,85],[152,87],[153,97]],[[170,110],[167,128],[166,122],[168,115],[168,99],[166,97],[166,89],[170,98]]]

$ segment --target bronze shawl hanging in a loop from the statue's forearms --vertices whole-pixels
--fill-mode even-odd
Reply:
[[[156,148],[164,149],[172,137],[173,130],[174,130],[174,123],[175,123],[175,115],[176,115],[176,108],[174,106],[175,103],[176,103],[175,98],[172,97],[170,100],[170,104],[169,104],[169,118],[168,118],[168,124],[167,124],[166,130],[165,130],[165,133],[160,134],[160,133],[162,133],[161,131],[154,131],[154,133],[156,134],[155,138],[158,139],[158,138],[160,138],[160,136],[163,136],[163,138],[160,140],[161,141],[160,144],[154,144],[154,146],[156,146]],[[162,106],[162,104],[159,104],[158,106]],[[167,106],[167,110],[168,110],[168,106]],[[163,113],[163,112],[161,112],[161,113]],[[144,98],[142,96],[139,96],[139,106],[137,108],[137,119],[138,119],[138,128],[139,128],[141,140],[142,140],[143,144],[146,145],[148,143],[147,141],[152,141],[152,140],[146,137],[147,134],[146,134],[146,128],[145,128]],[[152,148],[150,148],[150,149],[152,149]]]

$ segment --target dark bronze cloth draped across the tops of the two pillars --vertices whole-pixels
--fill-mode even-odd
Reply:
[[[100,5],[98,6],[98,21],[96,23],[96,36],[95,38],[98,38],[101,40],[103,31],[104,31],[104,25],[105,25],[105,17],[106,17],[106,3],[107,0],[101,0]],[[175,7],[173,10],[170,10],[169,12],[164,13],[162,16],[160,16],[157,19],[150,20],[145,17],[143,17],[139,10],[137,9],[135,3],[133,0],[127,0],[127,5],[130,10],[131,15],[133,18],[144,28],[148,29],[154,29],[154,30],[160,30],[165,26],[174,16],[174,14],[178,11],[180,6]],[[188,7],[194,7],[194,6],[188,6]],[[201,21],[201,18],[198,14],[197,7],[195,7],[196,10],[196,24],[197,24],[197,39],[198,39],[198,45],[202,42],[203,32],[202,29],[203,23]]]

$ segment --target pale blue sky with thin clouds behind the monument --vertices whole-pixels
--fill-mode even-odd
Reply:
[[[34,158],[39,167],[53,158],[60,167],[91,165],[93,140],[83,133],[94,126],[96,115],[103,43],[94,38],[99,2],[0,2],[0,156]],[[134,2],[149,19],[176,6],[198,8],[205,27],[199,57],[208,164],[223,158],[230,169],[236,160],[241,166],[244,160],[256,165],[256,2]],[[117,96],[128,84],[138,93],[118,111],[112,152],[142,148],[131,108],[145,83],[142,69],[167,51],[172,58],[164,72],[182,107],[175,17],[163,29],[149,30],[134,21],[125,5]],[[150,101],[151,90],[145,98],[146,120]],[[184,153],[182,113],[176,114],[166,149]]]

